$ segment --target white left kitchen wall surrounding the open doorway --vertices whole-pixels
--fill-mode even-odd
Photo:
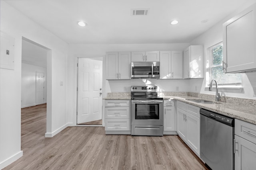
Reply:
[[[0,1],[1,31],[14,37],[14,70],[0,69],[0,169],[22,156],[20,134],[22,36],[48,49],[47,134],[53,136],[67,124],[68,44]],[[63,81],[63,86],[60,86]],[[48,115],[49,114],[49,115]]]

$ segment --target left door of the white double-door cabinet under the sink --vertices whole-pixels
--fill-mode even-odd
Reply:
[[[186,141],[187,137],[187,123],[185,121],[187,112],[177,108],[177,133]]]

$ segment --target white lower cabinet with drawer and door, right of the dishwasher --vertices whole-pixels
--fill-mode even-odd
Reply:
[[[256,125],[235,119],[235,170],[256,167]]]

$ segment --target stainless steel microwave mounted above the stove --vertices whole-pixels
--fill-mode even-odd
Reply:
[[[160,62],[132,62],[132,78],[160,78]]]

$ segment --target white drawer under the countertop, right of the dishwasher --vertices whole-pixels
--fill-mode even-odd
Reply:
[[[256,144],[256,125],[235,119],[235,134]]]

